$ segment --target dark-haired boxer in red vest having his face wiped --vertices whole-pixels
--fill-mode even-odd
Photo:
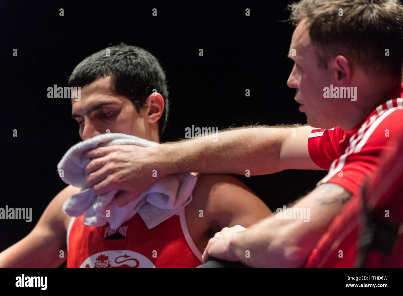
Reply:
[[[110,130],[159,142],[168,91],[164,71],[150,52],[123,43],[101,50],[77,65],[69,86],[81,87],[81,99],[71,99],[81,139]],[[116,155],[130,156],[135,147],[126,145]],[[215,232],[237,224],[248,227],[271,214],[234,176],[192,174],[197,182],[191,203],[151,229],[138,213],[118,229],[83,225],[84,215],[72,218],[62,211],[66,199],[80,191],[69,185],[25,238],[0,253],[0,267],[58,267],[66,261],[60,250],[67,253],[67,267],[196,267]],[[87,187],[100,177],[89,174]],[[98,186],[94,192],[101,195]]]

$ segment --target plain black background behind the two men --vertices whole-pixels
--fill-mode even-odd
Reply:
[[[286,85],[294,28],[281,21],[289,17],[289,1],[141,2],[0,4],[0,207],[32,207],[33,215],[31,223],[0,220],[0,251],[26,236],[66,186],[56,164],[81,141],[70,99],[48,99],[47,88],[66,86],[83,58],[110,44],[145,48],[164,68],[171,111],[161,142],[183,138],[192,124],[222,129],[306,123],[295,90]],[[14,48],[18,56],[12,56]],[[287,170],[239,178],[275,211],[312,190],[325,174]]]

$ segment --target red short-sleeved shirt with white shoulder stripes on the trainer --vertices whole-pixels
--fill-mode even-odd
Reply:
[[[361,211],[361,187],[382,164],[382,153],[395,149],[388,141],[402,135],[402,130],[403,99],[397,98],[378,106],[363,123],[348,132],[339,127],[329,130],[314,128],[311,131],[308,139],[310,157],[318,166],[329,170],[317,186],[323,183],[337,184],[351,192],[353,198],[319,240],[304,267],[353,267],[359,234],[356,223]],[[397,207],[397,204],[402,204],[401,197],[401,192],[394,192],[388,197],[391,200],[389,205],[393,205],[397,211],[395,216],[403,215],[403,207]],[[340,257],[340,250],[345,252],[343,257]],[[397,264],[388,259],[375,260],[376,256],[369,258],[371,260],[366,267],[382,267],[382,262],[389,261]],[[392,267],[392,263],[388,266]]]

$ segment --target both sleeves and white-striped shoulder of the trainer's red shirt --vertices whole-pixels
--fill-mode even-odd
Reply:
[[[403,93],[402,93],[403,96]],[[364,179],[376,170],[387,142],[403,129],[403,99],[378,106],[368,118],[345,132],[339,127],[312,129],[308,151],[315,164],[329,170],[316,184],[337,184],[352,194],[359,193]]]

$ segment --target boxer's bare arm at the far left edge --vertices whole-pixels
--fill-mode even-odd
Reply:
[[[79,189],[67,186],[46,207],[33,230],[0,253],[1,268],[56,268],[67,256],[62,205]],[[64,257],[60,258],[60,250]]]

